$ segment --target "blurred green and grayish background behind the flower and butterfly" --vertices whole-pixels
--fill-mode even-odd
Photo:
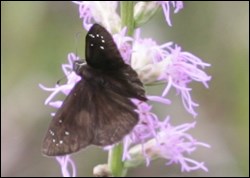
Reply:
[[[198,122],[191,133],[212,147],[191,157],[204,161],[209,172],[181,173],[179,165],[166,167],[158,160],[128,176],[249,176],[249,2],[185,2],[184,7],[171,15],[172,28],[159,11],[143,36],[174,41],[212,64],[206,70],[212,76],[209,90],[192,84],[200,104],[196,119],[174,90],[170,107],[155,108],[162,118],[170,115],[173,124]],[[71,2],[1,1],[1,176],[61,176],[57,162],[40,152],[53,109],[44,105],[49,93],[38,83],[54,86],[64,75],[61,64],[69,52],[77,49],[84,56],[84,33],[75,43],[80,31],[78,7]],[[91,146],[73,158],[78,176],[92,176],[107,153]]]

